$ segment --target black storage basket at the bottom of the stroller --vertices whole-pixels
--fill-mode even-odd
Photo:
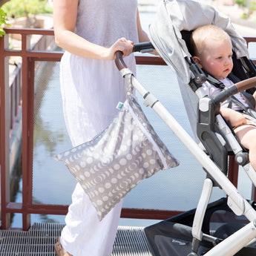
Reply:
[[[196,209],[186,211],[183,214],[145,228],[145,235],[154,256],[189,255],[192,248],[192,226],[195,211]],[[248,220],[245,217],[237,217],[229,209],[226,198],[210,203],[206,209],[202,226],[202,232],[205,236],[197,250],[197,255],[206,254],[217,243],[237,232],[247,223]],[[210,238],[207,234],[209,234]],[[256,247],[251,245],[240,249],[235,255],[248,256],[255,255],[255,253]]]

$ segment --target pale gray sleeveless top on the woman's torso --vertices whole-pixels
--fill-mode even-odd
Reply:
[[[80,0],[76,33],[103,46],[113,45],[120,37],[138,42],[136,16],[137,0]]]

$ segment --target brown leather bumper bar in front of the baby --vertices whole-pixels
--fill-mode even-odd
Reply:
[[[254,87],[256,87],[256,76],[243,80],[241,82],[237,82],[236,84],[230,86],[226,90],[221,91],[219,94],[217,94],[217,96],[214,96],[214,102],[215,103],[224,102],[230,96]]]

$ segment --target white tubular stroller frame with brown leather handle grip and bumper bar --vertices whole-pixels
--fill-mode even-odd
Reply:
[[[152,48],[152,46],[151,46]],[[116,53],[116,66],[125,76],[131,73],[131,70],[127,68],[125,62],[122,59],[122,53]],[[232,86],[229,91],[223,91],[220,97],[220,101],[226,96],[231,96],[238,91],[244,91],[248,88],[252,88],[256,82],[256,77],[247,79],[243,82],[238,82]],[[203,190],[200,196],[200,200],[197,204],[197,210],[194,217],[194,223],[192,227],[193,242],[191,253],[189,256],[197,256],[197,249],[202,240],[211,241],[216,244],[209,252],[206,252],[206,256],[218,255],[218,256],[232,256],[243,246],[249,243],[255,243],[256,237],[256,211],[252,205],[240,194],[237,188],[230,182],[230,180],[223,174],[223,171],[209,158],[209,156],[203,151],[202,148],[195,142],[189,134],[183,129],[183,127],[174,119],[174,117],[167,111],[167,109],[161,104],[161,102],[150,92],[148,92],[141,84],[137,81],[134,76],[131,76],[131,84],[145,99],[144,105],[150,106],[161,119],[168,125],[168,128],[174,132],[178,139],[183,142],[183,145],[188,148],[191,154],[198,160],[203,166],[207,174],[226,192],[229,197],[228,205],[237,215],[244,215],[250,222],[242,229],[238,230],[231,236],[227,237],[223,241],[219,241],[216,237],[212,237],[208,234],[203,234],[202,225],[203,217],[206,212],[206,208],[209,204],[211,197],[211,191],[214,186],[213,180],[206,177],[204,181]],[[229,134],[229,133],[227,133]]]

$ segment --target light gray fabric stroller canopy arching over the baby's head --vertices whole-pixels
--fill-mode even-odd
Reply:
[[[185,84],[190,82],[191,72],[184,58],[191,57],[191,54],[180,31],[191,31],[206,24],[215,24],[226,30],[237,58],[249,58],[246,41],[234,30],[230,19],[209,4],[193,0],[163,0],[149,27],[151,43]]]

